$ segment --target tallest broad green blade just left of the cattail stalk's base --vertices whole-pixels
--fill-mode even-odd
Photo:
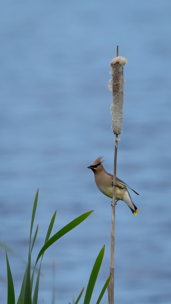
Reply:
[[[87,286],[87,290],[85,293],[85,299],[84,299],[84,304],[89,304],[90,303],[90,299],[92,296],[92,292],[94,289],[94,285],[96,283],[96,279],[100,270],[100,266],[102,264],[102,260],[103,260],[103,256],[104,256],[104,250],[105,250],[105,245],[102,247],[102,249],[99,252],[98,257],[96,258],[96,262],[92,268],[92,272],[89,278],[89,283]]]

